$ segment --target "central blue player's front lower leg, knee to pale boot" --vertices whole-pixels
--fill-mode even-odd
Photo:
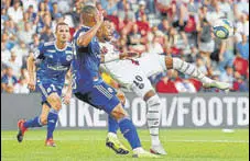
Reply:
[[[145,151],[141,147],[141,141],[139,139],[137,128],[131,119],[129,119],[128,114],[126,113],[121,104],[118,104],[112,110],[110,115],[118,122],[123,137],[129,141],[131,148],[133,149],[134,158],[159,158],[157,156]]]

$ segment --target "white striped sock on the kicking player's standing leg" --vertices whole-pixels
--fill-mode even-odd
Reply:
[[[160,145],[159,139],[159,126],[161,120],[160,97],[157,95],[154,95],[146,101],[146,104],[148,104],[146,122],[150,130],[152,146],[157,146]]]

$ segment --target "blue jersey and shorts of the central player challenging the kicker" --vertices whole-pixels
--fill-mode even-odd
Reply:
[[[73,92],[79,100],[110,114],[120,101],[116,96],[116,90],[106,84],[100,77],[98,39],[93,37],[86,47],[77,45],[77,38],[88,30],[89,27],[81,26],[73,39]]]

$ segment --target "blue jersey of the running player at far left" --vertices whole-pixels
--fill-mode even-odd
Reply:
[[[53,83],[63,88],[73,59],[72,45],[68,43],[65,49],[58,49],[55,42],[44,43],[34,53],[34,57],[37,82]]]

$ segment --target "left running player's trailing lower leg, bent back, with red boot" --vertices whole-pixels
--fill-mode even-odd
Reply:
[[[42,126],[47,124],[46,117],[47,117],[48,111],[50,111],[50,107],[46,104],[43,104],[42,114],[40,116],[36,116],[36,117],[29,119],[29,120],[20,119],[18,122],[19,131],[18,131],[18,135],[17,135],[17,139],[18,139],[19,142],[22,142],[23,137],[24,137],[24,133],[29,128],[42,127]]]

